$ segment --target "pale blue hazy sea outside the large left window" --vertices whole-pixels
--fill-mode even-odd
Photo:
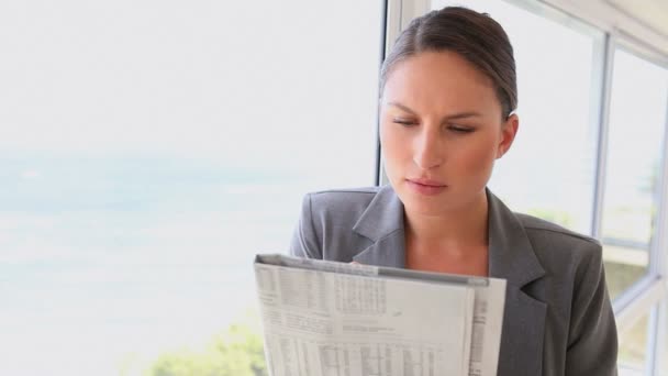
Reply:
[[[179,157],[4,157],[0,375],[141,375],[256,310],[308,174]]]

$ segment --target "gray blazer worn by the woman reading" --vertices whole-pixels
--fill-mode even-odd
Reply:
[[[600,243],[487,195],[489,275],[508,280],[498,375],[616,375]],[[291,254],[404,267],[403,204],[390,186],[307,195]]]

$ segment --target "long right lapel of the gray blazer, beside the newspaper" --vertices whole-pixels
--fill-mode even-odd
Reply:
[[[489,275],[505,278],[499,376],[542,375],[547,305],[523,291],[545,275],[515,214],[489,190]]]

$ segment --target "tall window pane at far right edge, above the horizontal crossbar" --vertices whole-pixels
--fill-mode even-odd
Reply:
[[[648,266],[658,203],[668,71],[623,49],[614,54],[602,237],[616,297]]]

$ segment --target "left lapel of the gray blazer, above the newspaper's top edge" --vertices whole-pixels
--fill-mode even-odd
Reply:
[[[383,186],[353,228],[372,244],[353,257],[360,264],[404,267],[403,204],[390,186]]]

